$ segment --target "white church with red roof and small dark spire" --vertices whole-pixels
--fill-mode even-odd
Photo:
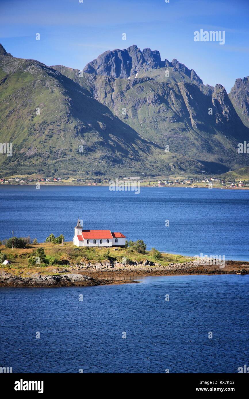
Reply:
[[[125,235],[111,230],[83,230],[78,219],[74,227],[74,245],[77,247],[124,247]]]

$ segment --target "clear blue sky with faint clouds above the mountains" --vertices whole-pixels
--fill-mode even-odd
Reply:
[[[78,69],[136,44],[229,92],[249,75],[248,21],[249,0],[0,0],[0,43],[15,57]],[[225,31],[225,44],[195,42],[200,29]]]

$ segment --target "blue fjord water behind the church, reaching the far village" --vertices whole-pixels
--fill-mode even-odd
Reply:
[[[0,186],[0,239],[50,233],[74,236],[84,229],[121,231],[155,247],[183,255],[225,255],[249,260],[249,190],[147,188],[111,192],[108,187]],[[169,227],[165,227],[169,220]]]

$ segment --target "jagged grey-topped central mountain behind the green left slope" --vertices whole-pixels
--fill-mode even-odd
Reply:
[[[116,56],[122,60],[119,70]],[[193,69],[175,59],[161,61],[158,51],[137,46],[108,51],[90,64],[96,67],[93,73],[53,68],[88,90],[141,137],[198,160],[203,170],[226,172],[248,164],[247,154],[237,154],[237,144],[249,137],[249,130],[223,86],[203,85]],[[90,64],[84,71],[90,71]]]

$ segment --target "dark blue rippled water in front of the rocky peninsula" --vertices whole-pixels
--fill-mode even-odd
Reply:
[[[248,275],[139,280],[1,288],[1,365],[13,373],[237,373],[249,364]]]

